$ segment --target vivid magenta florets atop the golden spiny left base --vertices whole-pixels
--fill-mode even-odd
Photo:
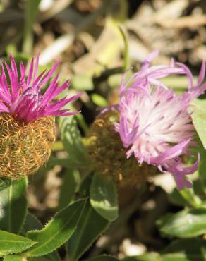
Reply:
[[[66,116],[78,113],[77,111],[69,112],[68,109],[61,108],[68,104],[68,102],[77,99],[80,94],[70,98],[64,97],[57,102],[52,102],[52,99],[69,86],[68,80],[59,86],[59,75],[54,77],[43,95],[40,93],[42,87],[54,75],[59,65],[58,62],[47,73],[43,71],[39,75],[37,75],[39,57],[37,57],[36,61],[32,59],[28,66],[23,66],[21,62],[20,78],[18,78],[16,62],[12,56],[10,58],[11,68],[6,62],[4,65],[1,64],[0,112],[9,113],[19,121],[27,123],[40,119],[43,116]],[[26,75],[27,67],[28,75]],[[6,79],[5,68],[8,72],[9,82]]]

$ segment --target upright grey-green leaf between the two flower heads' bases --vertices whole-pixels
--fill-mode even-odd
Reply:
[[[59,117],[61,140],[68,153],[68,158],[74,164],[85,164],[85,147],[74,116]]]

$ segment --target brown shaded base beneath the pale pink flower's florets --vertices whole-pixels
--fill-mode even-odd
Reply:
[[[85,139],[89,162],[96,174],[114,181],[119,189],[140,188],[157,172],[157,167],[138,164],[133,155],[126,159],[126,148],[114,130],[118,120],[119,112],[109,110],[92,123]]]

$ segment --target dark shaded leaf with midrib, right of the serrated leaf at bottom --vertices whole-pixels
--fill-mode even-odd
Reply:
[[[78,223],[78,228],[68,240],[68,259],[78,260],[108,226],[109,221],[100,216],[88,201]]]

